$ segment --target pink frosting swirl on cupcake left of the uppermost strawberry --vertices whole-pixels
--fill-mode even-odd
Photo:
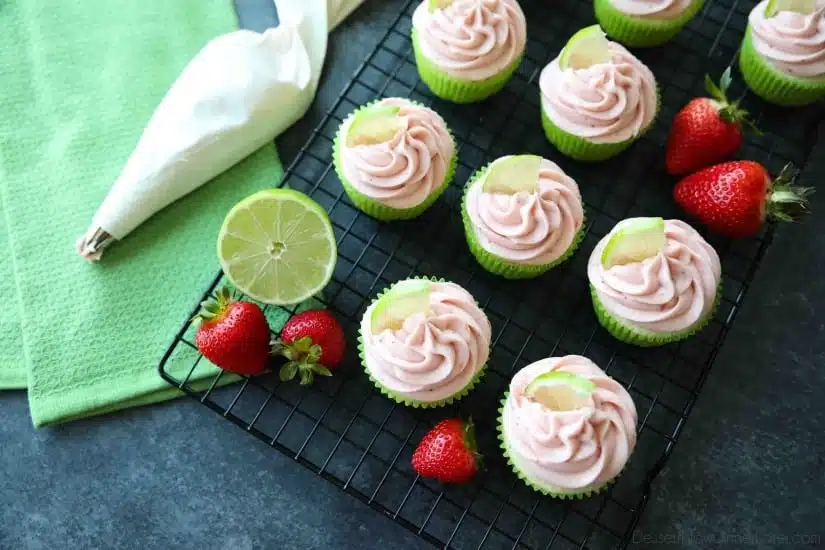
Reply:
[[[553,123],[593,143],[618,143],[637,136],[656,116],[656,79],[624,46],[610,43],[612,59],[586,69],[541,72],[541,105]]]

